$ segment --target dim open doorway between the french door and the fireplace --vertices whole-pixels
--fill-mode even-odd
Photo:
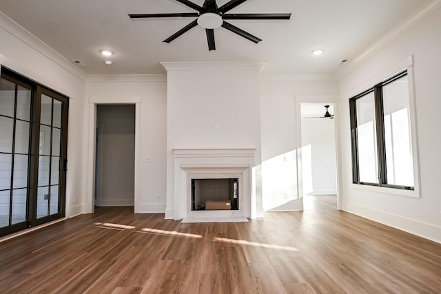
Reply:
[[[95,158],[95,206],[133,206],[134,104],[96,106]]]

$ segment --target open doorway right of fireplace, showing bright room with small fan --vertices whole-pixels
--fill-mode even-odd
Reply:
[[[300,118],[303,209],[314,209],[313,197],[331,201],[337,209],[334,104],[300,103]]]

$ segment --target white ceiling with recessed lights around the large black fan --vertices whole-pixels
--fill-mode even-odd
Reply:
[[[0,11],[88,74],[163,74],[160,61],[265,61],[265,74],[334,74],[388,30],[438,0],[248,0],[230,13],[287,13],[289,21],[231,20],[263,39],[224,28],[209,52],[205,30],[163,40],[194,18],[130,19],[129,13],[195,12],[175,0],[1,0]],[[203,0],[193,0],[199,6]],[[218,6],[228,0],[218,0]],[[0,40],[1,41],[1,40]],[[324,50],[313,56],[312,50]],[[104,64],[101,49],[114,55]],[[346,65],[339,65],[348,59]]]

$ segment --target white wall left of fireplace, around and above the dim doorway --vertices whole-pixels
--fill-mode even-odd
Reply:
[[[90,103],[96,105],[140,102],[137,114],[139,129],[136,129],[139,134],[139,144],[136,146],[139,148],[139,178],[136,179],[139,185],[138,191],[135,191],[139,198],[135,199],[135,211],[164,212],[167,174],[165,76],[90,76],[86,83],[86,92]],[[93,129],[93,123],[89,123],[89,129]],[[93,150],[88,153],[93,157]],[[93,185],[86,190],[90,189],[93,189]],[[86,193],[88,198],[93,197],[92,191]],[[85,205],[85,211],[90,211],[91,199]]]

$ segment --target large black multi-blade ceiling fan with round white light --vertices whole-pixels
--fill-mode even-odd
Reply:
[[[208,50],[216,50],[216,44],[214,42],[214,29],[223,27],[227,30],[243,36],[245,39],[258,43],[262,41],[256,36],[237,28],[231,23],[227,23],[226,19],[289,19],[291,13],[240,13],[230,14],[226,13],[236,6],[244,3],[247,0],[231,0],[225,3],[223,6],[218,7],[216,0],[205,0],[203,6],[198,6],[196,3],[188,0],[176,0],[183,3],[185,6],[196,10],[197,12],[190,13],[155,13],[155,14],[128,14],[131,19],[144,19],[144,18],[158,18],[158,17],[197,17],[194,21],[185,25],[184,28],[178,30],[178,32],[172,34],[164,40],[165,43],[170,43],[178,36],[181,36],[185,32],[188,32],[196,25],[200,25],[205,28],[207,33]]]

